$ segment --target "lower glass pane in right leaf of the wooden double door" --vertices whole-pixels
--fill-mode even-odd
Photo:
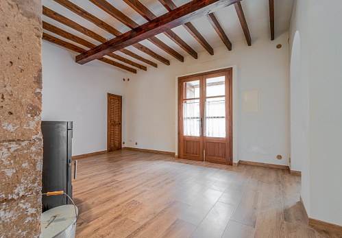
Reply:
[[[206,102],[204,136],[225,137],[225,100]]]

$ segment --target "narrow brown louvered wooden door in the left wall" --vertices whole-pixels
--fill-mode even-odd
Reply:
[[[122,96],[108,93],[107,150],[121,150]]]

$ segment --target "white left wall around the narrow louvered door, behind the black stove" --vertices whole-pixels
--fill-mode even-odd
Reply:
[[[42,42],[42,120],[73,121],[73,155],[107,150],[107,93],[123,95],[126,73],[103,62],[75,63],[75,53]]]

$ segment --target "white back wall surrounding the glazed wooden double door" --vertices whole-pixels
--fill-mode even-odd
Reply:
[[[253,39],[251,47],[243,41],[233,44],[232,51],[220,47],[215,49],[215,56],[201,52],[197,60],[186,56],[184,63],[171,60],[171,66],[158,64],[158,69],[131,76],[126,85],[126,145],[175,152],[175,77],[236,65],[239,101],[243,91],[260,91],[260,112],[242,113],[239,104],[240,159],[289,165],[288,37],[287,32],[274,41],[269,36],[260,37]],[[282,48],[276,49],[279,43]],[[246,145],[270,147],[270,154],[245,153]],[[282,160],[276,158],[278,154],[283,156]]]

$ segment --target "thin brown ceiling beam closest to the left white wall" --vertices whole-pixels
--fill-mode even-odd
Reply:
[[[50,36],[49,34],[46,34],[45,32],[42,33],[42,39],[43,40],[47,40],[50,43],[53,43],[53,44],[59,45],[61,47],[64,47],[66,49],[70,49],[71,51],[75,51],[77,53],[83,53],[83,52],[86,51],[85,49],[82,49],[81,47],[78,47],[76,45],[68,43],[68,42],[66,42],[64,40],[61,40],[59,38],[56,38],[54,36]],[[133,69],[131,67],[127,67],[127,66],[125,66],[123,64],[120,64],[120,63],[115,62],[113,60],[110,60],[108,58],[101,57],[101,58],[98,58],[97,60],[100,60],[100,61],[105,62],[107,64],[111,64],[114,67],[118,67],[120,69],[124,69],[125,71],[129,71],[131,73],[136,73],[136,69]]]

